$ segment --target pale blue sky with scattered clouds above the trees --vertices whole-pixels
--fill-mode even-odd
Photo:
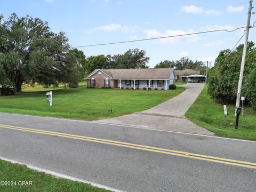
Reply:
[[[248,8],[249,0],[9,0],[1,1],[0,14],[4,19],[15,12],[19,17],[30,15],[47,21],[54,33],[64,31],[69,44],[76,47],[218,29],[233,30],[246,26]],[[255,21],[255,14],[252,14],[251,26]],[[209,61],[213,66],[219,52],[232,49],[244,30],[78,49],[90,57],[123,54],[138,48],[146,51],[150,68],[161,61],[181,57]],[[249,41],[256,42],[255,31],[256,28],[250,29]],[[244,37],[239,44],[243,43]]]

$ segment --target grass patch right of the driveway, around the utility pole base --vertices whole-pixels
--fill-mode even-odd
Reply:
[[[227,106],[228,115],[223,113],[223,105],[215,103],[207,93],[207,85],[185,116],[195,124],[205,127],[215,135],[227,138],[256,141],[256,111],[244,107],[244,117],[239,116],[238,129],[235,129],[235,106]]]

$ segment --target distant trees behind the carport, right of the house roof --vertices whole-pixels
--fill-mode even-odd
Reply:
[[[182,57],[180,60],[164,60],[156,64],[155,68],[173,68],[177,70],[194,69],[199,70],[201,75],[206,74],[206,66],[202,61],[192,61],[188,57]]]

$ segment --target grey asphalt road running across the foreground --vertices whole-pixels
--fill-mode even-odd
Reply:
[[[256,142],[3,113],[0,124],[1,157],[101,185],[125,191],[256,191],[256,169],[214,162],[222,157],[256,163]],[[205,161],[189,153],[214,157]]]

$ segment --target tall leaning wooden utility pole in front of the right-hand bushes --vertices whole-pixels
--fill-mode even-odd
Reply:
[[[251,13],[252,13],[252,0],[250,0],[250,4],[249,4],[247,25],[246,25],[246,30],[245,30],[245,42],[244,42],[244,49],[243,49],[243,55],[242,55],[241,69],[240,69],[240,75],[239,75],[239,81],[238,81],[235,116],[236,116],[236,109],[237,109],[237,107],[240,106],[241,90],[242,90],[243,75],[244,75],[244,64],[245,64],[247,42],[248,42],[248,35],[249,35],[249,29],[250,29]]]

